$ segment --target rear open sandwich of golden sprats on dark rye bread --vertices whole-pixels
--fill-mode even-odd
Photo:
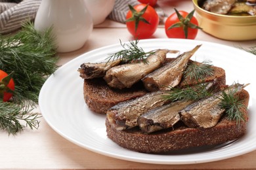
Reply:
[[[215,86],[226,84],[224,69],[213,65],[210,67],[211,75],[205,75],[203,78],[183,76],[189,63],[202,65],[190,60],[200,46],[183,52],[177,58],[166,58],[166,54],[172,50],[158,49],[145,61],[121,65],[118,65],[121,63],[120,59],[108,63],[83,63],[78,71],[81,78],[84,78],[85,103],[94,112],[106,114],[106,111],[117,103],[135,99],[149,91],[166,90],[174,85],[184,88],[212,80],[217,82]],[[150,67],[150,65],[153,66]]]

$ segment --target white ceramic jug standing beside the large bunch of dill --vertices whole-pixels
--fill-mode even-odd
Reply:
[[[58,52],[81,48],[93,30],[91,14],[83,0],[42,0],[35,16],[35,29],[53,26]]]

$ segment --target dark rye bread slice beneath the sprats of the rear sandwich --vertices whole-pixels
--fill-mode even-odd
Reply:
[[[169,58],[170,59],[170,58]],[[214,74],[204,78],[205,82],[212,80],[217,81],[217,86],[226,84],[226,75],[224,69],[220,67],[212,66]],[[184,87],[187,85],[194,85],[198,82],[196,80],[190,80],[190,78],[182,78],[179,86]],[[135,99],[148,93],[142,82],[138,82],[131,88],[123,90],[111,88],[106,84],[103,78],[85,79],[83,84],[83,95],[85,103],[89,109],[100,114],[106,114],[106,111],[113,107],[117,103],[127,101],[129,99]]]

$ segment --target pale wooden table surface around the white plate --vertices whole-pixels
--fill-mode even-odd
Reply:
[[[193,9],[192,1],[159,1],[167,14],[174,10]],[[163,25],[154,34],[154,39],[166,39]],[[59,54],[59,65],[102,46],[132,40],[124,24],[111,20],[95,26],[83,48],[74,52]],[[224,41],[199,31],[196,40],[217,42],[228,46],[249,47],[256,41]],[[255,56],[256,57],[256,56]],[[40,112],[39,108],[35,111]],[[157,165],[119,160],[81,148],[56,133],[44,118],[40,118],[39,129],[25,129],[16,136],[0,132],[1,169],[256,169],[256,150],[227,160],[191,165]],[[256,144],[256,143],[255,143]]]

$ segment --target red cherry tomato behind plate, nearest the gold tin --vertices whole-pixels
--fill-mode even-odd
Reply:
[[[169,38],[195,39],[198,34],[198,20],[193,16],[194,10],[188,14],[183,10],[171,14],[165,21],[165,33]]]

